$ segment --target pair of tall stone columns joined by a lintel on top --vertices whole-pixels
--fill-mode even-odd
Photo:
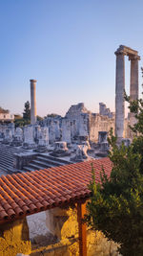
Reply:
[[[114,53],[116,55],[116,80],[115,80],[115,135],[118,142],[123,139],[124,119],[125,119],[125,56],[131,60],[131,83],[130,83],[130,98],[131,100],[138,99],[138,52],[133,49],[120,45]],[[133,126],[135,118],[130,113],[130,125]]]

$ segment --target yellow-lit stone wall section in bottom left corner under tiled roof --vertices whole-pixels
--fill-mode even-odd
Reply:
[[[31,253],[29,228],[26,219],[0,225],[0,255],[15,256]]]

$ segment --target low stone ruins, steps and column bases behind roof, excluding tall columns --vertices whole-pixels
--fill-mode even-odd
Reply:
[[[109,151],[110,128],[114,130],[114,118],[92,113],[83,103],[72,105],[65,117],[48,116],[23,128],[15,128],[13,123],[1,124],[1,174],[30,172],[103,157]]]

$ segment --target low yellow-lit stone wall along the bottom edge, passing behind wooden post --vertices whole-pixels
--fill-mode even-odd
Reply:
[[[108,242],[101,232],[88,230],[87,235],[87,256],[119,256],[116,244]],[[32,251],[31,256],[79,256],[78,238],[38,248]]]

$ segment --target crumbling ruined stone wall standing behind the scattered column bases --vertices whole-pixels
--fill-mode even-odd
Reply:
[[[100,106],[103,107],[100,107],[100,113],[96,114],[89,111],[82,103],[72,105],[64,118],[60,116],[47,117],[39,122],[42,127],[37,125],[24,127],[24,138],[23,130],[19,135],[11,124],[9,126],[0,126],[0,138],[2,140],[5,138],[8,143],[14,143],[13,137],[15,137],[18,138],[18,141],[20,140],[21,144],[24,139],[26,149],[34,149],[37,145],[47,147],[49,142],[53,145],[54,142],[61,140],[70,144],[78,141],[80,137],[87,137],[91,142],[97,142],[98,132],[109,132],[111,128],[114,131],[115,123],[114,114],[110,109],[106,108],[104,104],[100,104]],[[127,119],[124,122],[124,138],[131,137],[128,122]],[[13,144],[13,146],[15,145]]]

